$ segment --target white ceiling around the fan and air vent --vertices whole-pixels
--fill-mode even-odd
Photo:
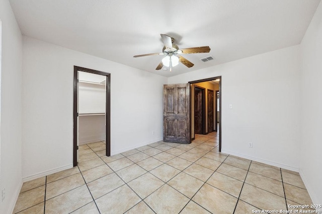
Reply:
[[[297,45],[320,0],[10,0],[23,35],[163,76]],[[155,68],[163,56],[160,34],[195,64]],[[213,56],[215,60],[202,62]]]

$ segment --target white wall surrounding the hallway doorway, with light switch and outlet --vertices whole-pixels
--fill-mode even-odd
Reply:
[[[299,61],[299,46],[293,46],[171,77],[168,82],[221,76],[222,151],[298,171]]]

